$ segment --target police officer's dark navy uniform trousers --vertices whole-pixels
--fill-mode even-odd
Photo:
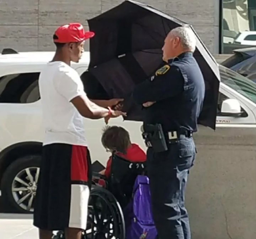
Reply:
[[[196,149],[193,138],[181,138],[169,149],[147,151],[153,216],[160,239],[191,239],[185,190]]]

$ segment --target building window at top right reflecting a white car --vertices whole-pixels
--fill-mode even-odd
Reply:
[[[256,46],[256,1],[222,0],[221,52]],[[254,42],[255,41],[255,42]]]

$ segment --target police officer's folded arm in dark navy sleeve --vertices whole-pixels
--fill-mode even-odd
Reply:
[[[152,79],[152,78],[151,78]],[[135,86],[133,99],[144,107],[149,107],[166,98],[174,97],[183,91],[184,79],[177,67],[170,66],[164,74],[158,74],[153,80],[147,79]]]

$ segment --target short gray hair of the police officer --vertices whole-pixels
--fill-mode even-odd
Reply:
[[[176,27],[170,31],[170,34],[181,39],[184,49],[192,52],[196,50],[196,37],[190,27]]]

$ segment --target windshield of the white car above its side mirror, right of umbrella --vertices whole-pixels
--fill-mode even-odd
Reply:
[[[256,104],[256,83],[224,66],[220,65],[219,70],[222,83]]]

